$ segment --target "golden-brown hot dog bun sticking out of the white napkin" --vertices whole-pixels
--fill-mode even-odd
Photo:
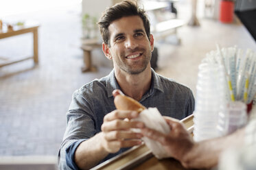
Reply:
[[[146,107],[140,104],[138,101],[126,95],[116,95],[114,103],[118,110],[135,110],[137,112],[141,112],[142,110],[146,109]]]

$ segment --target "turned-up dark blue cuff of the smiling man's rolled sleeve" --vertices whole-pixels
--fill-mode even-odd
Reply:
[[[85,141],[84,139],[80,139],[78,141],[75,141],[74,143],[72,143],[69,147],[67,147],[66,149],[66,162],[67,162],[67,166],[69,166],[69,168],[73,169],[73,170],[78,170],[78,166],[75,164],[75,150],[78,148],[78,146],[80,145],[80,143],[82,143],[83,141]]]

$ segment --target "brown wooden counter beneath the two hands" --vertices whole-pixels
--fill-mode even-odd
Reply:
[[[194,115],[181,120],[184,123],[187,130],[191,133],[194,129],[193,122]],[[144,170],[144,169],[158,169],[158,170],[185,170],[178,160],[173,158],[165,158],[158,160],[153,156],[152,152],[146,145],[140,145],[139,147],[132,147],[132,149],[106,160],[100,165],[97,165],[92,170],[95,169],[133,169],[133,170]]]

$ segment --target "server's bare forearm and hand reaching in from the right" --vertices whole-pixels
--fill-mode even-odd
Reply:
[[[159,141],[170,154],[170,157],[181,161],[186,168],[209,168],[217,165],[220,153],[228,148],[242,145],[244,129],[207,141],[195,143],[182,123],[165,118],[170,125],[170,134],[161,134],[155,130],[143,128],[141,133],[148,138]]]

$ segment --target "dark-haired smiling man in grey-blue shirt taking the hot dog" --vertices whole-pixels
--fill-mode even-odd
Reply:
[[[113,60],[114,69],[73,93],[59,151],[60,169],[89,169],[141,144],[143,135],[130,128],[144,124],[125,120],[136,118],[138,112],[116,110],[113,101],[117,93],[147,108],[156,107],[167,117],[183,119],[194,111],[189,88],[151,69],[154,38],[148,17],[136,1],[122,1],[108,8],[98,24],[104,40],[102,50]]]

